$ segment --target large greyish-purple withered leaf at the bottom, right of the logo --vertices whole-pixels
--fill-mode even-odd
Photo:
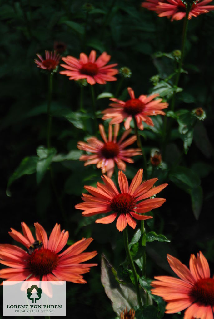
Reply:
[[[126,307],[138,307],[138,300],[134,286],[126,284],[124,281],[119,280],[116,275],[115,269],[110,265],[107,258],[102,255],[101,257],[101,282],[104,286],[105,293],[112,302],[112,308],[117,315],[120,315]],[[141,289],[141,293],[145,298],[146,293]],[[149,299],[151,303],[151,298]]]

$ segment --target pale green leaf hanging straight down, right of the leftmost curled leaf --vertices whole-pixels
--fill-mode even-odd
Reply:
[[[36,149],[37,155],[39,157],[36,163],[36,182],[39,184],[44,177],[45,172],[49,168],[54,155],[56,154],[55,148],[47,149],[44,146],[39,146]]]

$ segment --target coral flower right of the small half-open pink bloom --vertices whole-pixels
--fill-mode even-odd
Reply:
[[[91,85],[95,83],[106,84],[106,81],[116,81],[113,75],[118,73],[113,69],[117,63],[106,65],[111,56],[103,52],[96,60],[96,51],[92,50],[89,57],[85,53],[80,53],[80,59],[74,56],[63,57],[62,60],[67,64],[60,64],[66,71],[59,72],[69,77],[69,80],[86,79]]]

